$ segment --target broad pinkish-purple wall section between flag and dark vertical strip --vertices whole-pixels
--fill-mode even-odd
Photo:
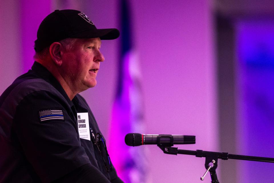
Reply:
[[[218,151],[209,3],[138,1],[132,7],[143,74],[144,133],[196,135],[195,145],[178,147]],[[153,182],[199,182],[205,172],[204,158],[146,148]]]

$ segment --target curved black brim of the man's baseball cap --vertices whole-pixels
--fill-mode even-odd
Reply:
[[[118,29],[90,29],[86,30],[74,35],[71,35],[70,37],[73,38],[95,38],[100,37],[102,40],[111,40],[116,39],[120,35],[120,32]]]

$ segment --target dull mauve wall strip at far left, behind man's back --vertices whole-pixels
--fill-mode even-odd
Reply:
[[[1,1],[0,6],[0,93],[21,73],[19,5]]]

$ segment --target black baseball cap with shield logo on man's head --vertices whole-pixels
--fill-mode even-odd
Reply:
[[[73,9],[55,10],[40,24],[34,49],[39,52],[53,42],[65,38],[95,38],[102,40],[116,39],[118,29],[97,29],[83,12]]]

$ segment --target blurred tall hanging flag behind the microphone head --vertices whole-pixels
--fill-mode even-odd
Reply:
[[[144,131],[141,74],[138,56],[132,45],[132,21],[126,0],[121,0],[120,12],[121,54],[117,93],[112,108],[109,154],[118,176],[124,182],[143,183],[147,179],[145,148],[126,146],[124,142],[126,134]]]

